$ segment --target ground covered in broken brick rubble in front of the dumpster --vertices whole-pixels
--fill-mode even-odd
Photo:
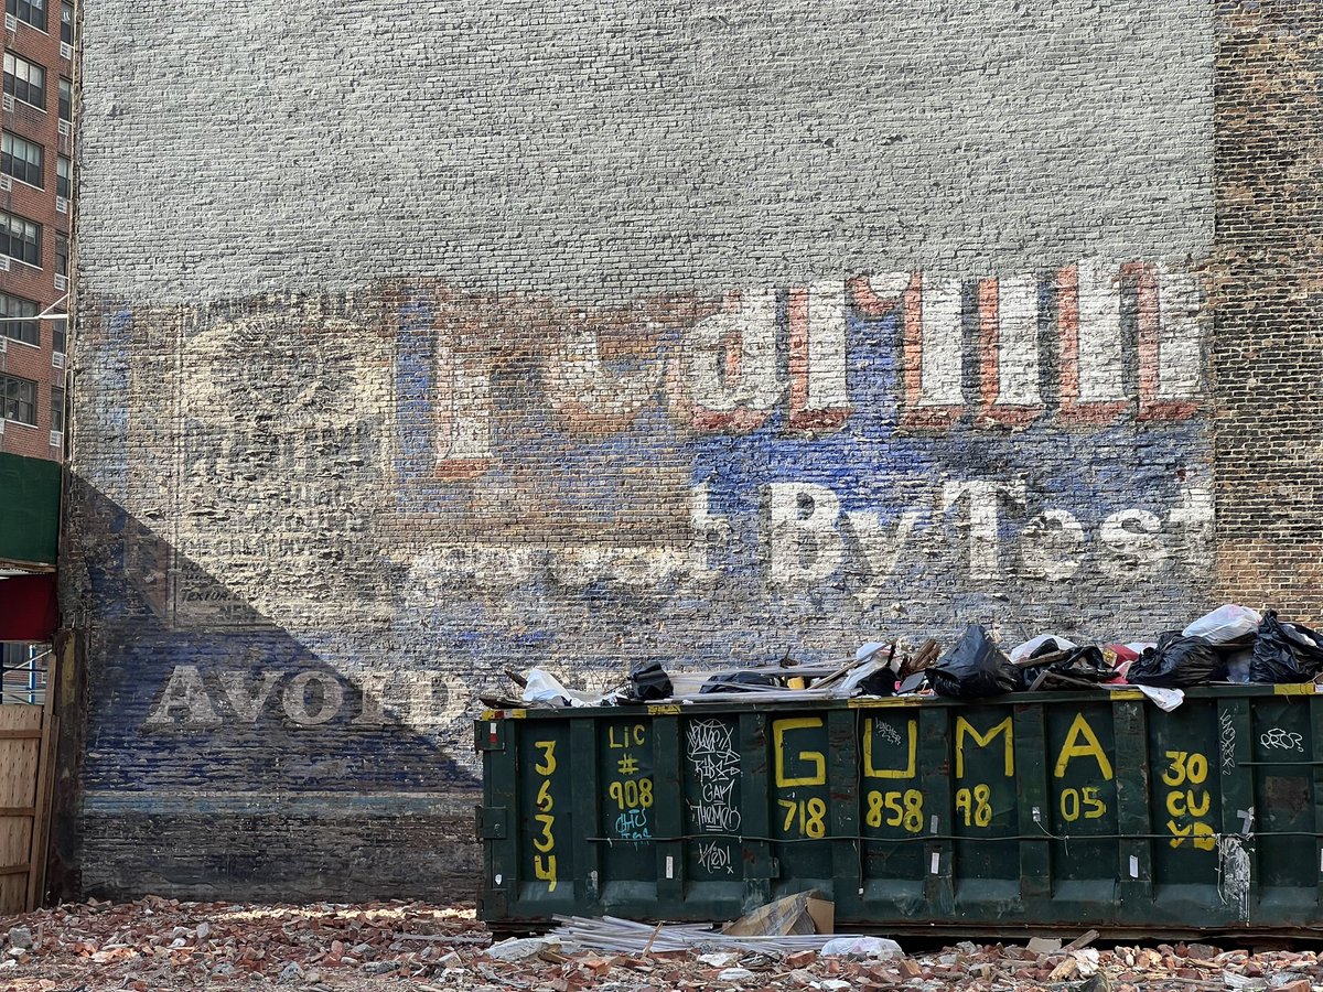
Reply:
[[[490,951],[472,903],[66,903],[0,921],[0,988],[95,989],[968,989],[1323,992],[1315,951],[1201,943],[1061,948],[960,942],[882,958],[709,950],[599,955],[548,938]],[[884,942],[878,942],[884,943]],[[1078,943],[1078,942],[1076,942]],[[904,938],[901,946],[905,947]]]

